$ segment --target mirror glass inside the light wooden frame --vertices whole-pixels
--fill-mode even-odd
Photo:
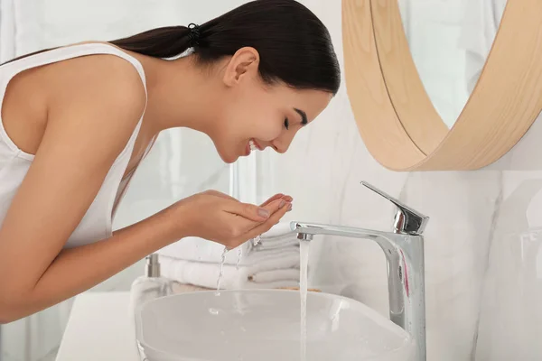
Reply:
[[[506,1],[398,1],[418,76],[448,128],[472,93]]]

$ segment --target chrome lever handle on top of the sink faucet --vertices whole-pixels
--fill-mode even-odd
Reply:
[[[397,206],[398,209],[394,222],[395,232],[406,233],[409,235],[421,235],[424,232],[425,225],[429,221],[429,218],[427,216],[423,215],[415,209],[406,206],[406,204],[401,203],[398,199],[391,197],[382,190],[378,190],[378,188],[369,184],[366,181],[362,180],[361,184],[369,188],[369,190],[378,193],[385,199],[388,199]]]

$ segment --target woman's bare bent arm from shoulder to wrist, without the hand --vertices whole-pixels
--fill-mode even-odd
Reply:
[[[92,58],[92,60],[90,59]],[[51,99],[33,163],[0,228],[0,321],[19,319],[105,280],[162,242],[156,218],[62,251],[145,108],[126,60],[85,57]],[[79,68],[81,69],[81,68]]]

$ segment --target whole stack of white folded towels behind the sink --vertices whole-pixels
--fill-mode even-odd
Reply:
[[[239,248],[241,256],[239,258]],[[216,289],[224,246],[187,237],[160,251],[162,275],[174,281]],[[226,254],[220,289],[269,289],[299,286],[299,241],[282,222]]]

